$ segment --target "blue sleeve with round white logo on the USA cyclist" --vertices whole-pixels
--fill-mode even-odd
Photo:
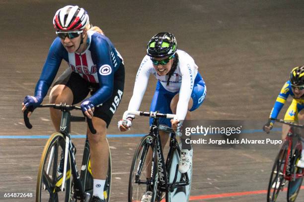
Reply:
[[[113,93],[114,68],[111,60],[111,47],[104,39],[91,42],[91,54],[96,60],[97,76],[100,88],[88,100],[94,106],[107,101]]]

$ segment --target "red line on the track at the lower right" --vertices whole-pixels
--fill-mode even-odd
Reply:
[[[301,189],[304,189],[304,186],[301,186]],[[286,191],[286,190],[287,189],[284,189],[284,191]],[[267,190],[191,196],[190,197],[190,201],[196,201],[196,200],[202,200],[202,199],[215,199],[215,198],[225,198],[225,197],[236,197],[236,196],[245,196],[245,195],[254,195],[254,194],[267,194]]]

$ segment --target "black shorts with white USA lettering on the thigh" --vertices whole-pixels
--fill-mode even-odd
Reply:
[[[68,68],[60,77],[55,81],[55,85],[66,85],[73,92],[73,104],[83,101],[88,93],[94,95],[94,93],[100,88],[98,83],[90,83],[84,80],[79,74],[73,72],[71,68]],[[119,68],[114,73],[114,88],[112,96],[102,104],[95,106],[94,116],[101,118],[107,124],[107,128],[111,122],[111,119],[122,99],[125,85],[125,67],[121,63]]]

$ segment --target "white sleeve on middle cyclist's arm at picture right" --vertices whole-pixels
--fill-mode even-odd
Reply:
[[[194,60],[180,63],[182,82],[179,90],[179,99],[176,107],[176,115],[179,120],[184,120],[188,111],[188,103],[194,87],[194,72],[196,64]]]

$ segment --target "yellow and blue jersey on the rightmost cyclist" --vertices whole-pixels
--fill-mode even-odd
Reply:
[[[292,86],[291,82],[287,81],[283,88],[281,89],[281,92],[279,96],[277,97],[277,100],[270,112],[269,118],[277,118],[282,107],[284,106],[288,96],[292,96],[294,99],[289,106],[288,110],[286,111],[286,114],[284,116],[284,120],[289,120],[289,121],[298,121],[297,115],[299,111],[301,111],[304,108],[304,98],[300,99],[295,99],[295,94],[292,91]],[[272,122],[273,123],[273,122]]]

